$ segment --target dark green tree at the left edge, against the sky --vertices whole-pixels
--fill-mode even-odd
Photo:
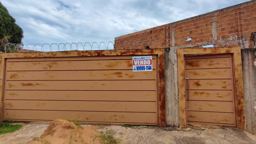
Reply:
[[[23,38],[23,30],[15,24],[15,19],[0,2],[0,41],[20,44]],[[4,40],[5,39],[5,40]],[[6,41],[8,39],[8,41]],[[2,44],[3,45],[3,44]],[[3,47],[1,47],[1,51]]]

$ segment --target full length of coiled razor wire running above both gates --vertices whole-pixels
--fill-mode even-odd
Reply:
[[[231,35],[228,35],[228,38],[223,39],[220,37],[219,40],[214,41],[213,37],[209,37],[209,41],[207,42],[200,42],[201,37],[197,39],[197,41],[192,44],[192,38],[190,40],[184,39],[186,42],[186,45],[182,45],[181,39],[179,39],[178,44],[175,46],[172,44],[172,39],[166,39],[166,43],[164,47],[161,47],[159,45],[159,40],[151,41],[150,43],[147,40],[144,40],[143,43],[138,42],[134,40],[133,43],[129,43],[128,41],[125,41],[123,45],[121,45],[120,41],[116,42],[78,42],[78,43],[52,43],[52,44],[6,44],[4,46],[4,51],[7,52],[7,49],[12,47],[11,50],[8,49],[8,52],[20,52],[21,49],[22,52],[44,52],[44,51],[72,51],[72,50],[114,50],[118,48],[117,46],[120,46],[121,49],[124,49],[128,47],[128,49],[142,49],[144,44],[147,44],[149,48],[165,48],[167,46],[168,42],[171,42],[171,47],[198,47],[198,46],[209,46],[209,45],[222,45],[222,46],[229,46],[229,45],[239,45],[239,40],[236,35],[233,37]],[[242,41],[242,40],[240,40]],[[158,42],[158,43],[157,43]],[[142,44],[139,44],[142,43]],[[174,41],[175,43],[175,41]],[[119,45],[118,45],[119,44]],[[125,44],[127,46],[125,46]],[[152,45],[150,47],[150,45]],[[158,46],[156,45],[158,44]],[[102,45],[102,46],[101,46]],[[169,46],[169,45],[168,45]]]

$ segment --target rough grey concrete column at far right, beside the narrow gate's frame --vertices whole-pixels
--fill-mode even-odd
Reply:
[[[245,99],[246,130],[256,133],[256,112],[253,109],[256,101],[256,68],[253,65],[256,50],[242,49],[242,69]]]

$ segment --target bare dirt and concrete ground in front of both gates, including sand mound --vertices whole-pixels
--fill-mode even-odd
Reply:
[[[202,127],[208,129],[202,130]],[[99,143],[99,139],[93,135],[106,131],[112,131],[113,136],[120,139],[121,144],[256,144],[255,135],[233,127],[189,126],[187,129],[182,129],[157,126],[83,125],[83,128],[79,128],[63,120],[55,120],[50,124],[45,122],[23,124],[23,127],[16,132],[0,135],[0,144],[42,144],[45,143],[44,140],[48,144],[65,144],[70,141],[73,144],[93,144]],[[35,136],[38,141],[33,141]]]

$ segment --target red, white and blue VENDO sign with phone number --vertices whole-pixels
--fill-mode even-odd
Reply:
[[[152,71],[152,56],[132,57],[133,71]]]

